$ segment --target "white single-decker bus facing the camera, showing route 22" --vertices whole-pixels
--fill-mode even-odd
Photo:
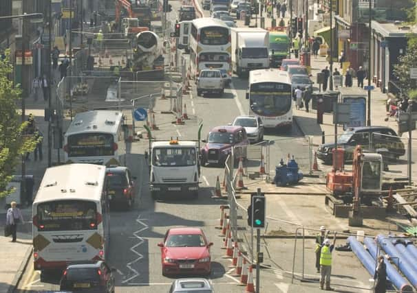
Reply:
[[[265,128],[292,128],[292,86],[287,71],[258,69],[250,71],[249,115],[260,117]]]

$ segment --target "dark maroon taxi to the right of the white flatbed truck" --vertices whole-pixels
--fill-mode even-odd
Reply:
[[[200,164],[223,165],[227,156],[235,148],[235,159],[246,158],[246,146],[249,144],[245,128],[242,126],[217,126],[208,132],[206,143],[200,153]]]

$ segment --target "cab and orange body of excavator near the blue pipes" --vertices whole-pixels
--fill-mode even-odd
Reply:
[[[339,198],[344,204],[357,201],[372,204],[381,196],[383,184],[383,157],[381,154],[363,152],[356,145],[353,152],[352,172],[343,169],[343,149],[333,150],[333,168],[326,176],[326,188],[330,191],[328,200]]]

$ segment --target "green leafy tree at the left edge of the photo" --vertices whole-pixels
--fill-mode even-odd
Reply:
[[[9,54],[0,58],[0,197],[12,191],[8,183],[12,179],[17,164],[26,152],[36,147],[34,135],[25,134],[28,121],[22,123],[19,113],[20,85],[14,86],[9,76],[12,73]]]

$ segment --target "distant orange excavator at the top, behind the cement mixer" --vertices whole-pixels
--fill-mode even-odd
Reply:
[[[127,16],[121,20],[122,8],[125,8]],[[116,0],[116,19],[115,22],[122,27],[125,36],[135,35],[149,30],[151,27],[151,8],[148,5],[138,3],[132,4],[129,0]]]

